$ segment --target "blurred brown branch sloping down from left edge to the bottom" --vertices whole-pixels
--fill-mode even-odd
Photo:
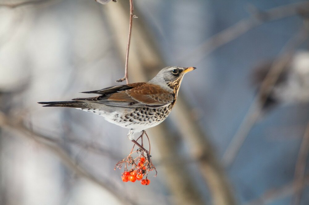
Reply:
[[[76,173],[78,176],[88,179],[89,181],[99,185],[125,204],[127,204],[128,202],[131,204],[135,204],[133,201],[125,197],[122,193],[116,191],[116,188],[113,187],[112,183],[109,182],[107,179],[100,180],[91,173],[89,173],[87,170],[85,170],[83,167],[80,167],[78,164],[76,164],[74,160],[66,153],[66,151],[64,151],[60,146],[54,143],[53,139],[31,131],[21,122],[16,122],[9,119],[2,112],[0,112],[0,127],[8,129],[10,131],[17,131],[21,134],[19,136],[24,136],[28,139],[34,140],[36,143],[40,144],[42,147],[46,148],[54,155],[56,155],[67,168]]]

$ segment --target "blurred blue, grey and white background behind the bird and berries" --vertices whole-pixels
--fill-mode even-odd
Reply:
[[[133,3],[129,82],[197,67],[147,130],[157,177],[114,171],[126,129],[36,103],[117,84],[129,1],[1,0],[0,204],[309,204],[308,1]]]

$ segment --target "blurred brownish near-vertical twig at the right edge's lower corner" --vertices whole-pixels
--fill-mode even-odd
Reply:
[[[307,124],[307,128],[303,136],[302,143],[300,145],[298,158],[295,166],[294,198],[291,202],[291,204],[294,205],[300,204],[302,189],[304,186],[304,176],[305,176],[305,169],[307,164],[306,161],[308,154],[309,154],[309,123]]]

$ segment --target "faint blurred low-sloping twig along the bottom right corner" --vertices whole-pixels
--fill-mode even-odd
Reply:
[[[309,186],[309,175],[306,175],[306,177],[303,180],[304,180],[303,187]],[[301,191],[303,187],[298,186],[296,187],[296,189],[298,191]],[[244,205],[270,204],[275,200],[282,199],[293,194],[293,190],[295,190],[295,187],[293,186],[292,182],[277,189],[270,189],[268,191],[265,191],[264,194],[262,194],[258,199],[246,202],[244,203]]]

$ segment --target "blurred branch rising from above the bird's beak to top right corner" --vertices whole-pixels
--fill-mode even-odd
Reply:
[[[178,61],[183,62],[196,56],[199,56],[200,59],[197,59],[197,61],[200,61],[201,58],[204,58],[214,50],[227,44],[228,42],[235,40],[239,36],[245,34],[257,26],[262,25],[265,22],[294,16],[299,14],[301,10],[308,9],[309,2],[304,1],[288,4],[285,6],[278,6],[266,11],[257,12],[257,10],[255,10],[254,14],[252,14],[249,18],[244,18],[233,26],[230,26],[217,34],[214,34],[212,37],[208,38],[204,43],[202,43],[201,46],[190,52],[190,54],[182,56],[178,59]]]

